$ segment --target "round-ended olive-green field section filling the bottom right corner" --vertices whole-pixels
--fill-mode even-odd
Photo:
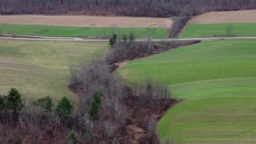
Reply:
[[[161,119],[161,137],[177,143],[256,143],[256,98],[209,98],[183,101]]]

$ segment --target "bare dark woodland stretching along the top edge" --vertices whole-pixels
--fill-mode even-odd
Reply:
[[[255,0],[1,0],[0,14],[87,14],[123,16],[178,16],[191,8],[206,11],[255,9]]]

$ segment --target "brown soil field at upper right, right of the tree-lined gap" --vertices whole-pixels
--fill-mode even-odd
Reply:
[[[256,10],[220,11],[194,17],[192,24],[256,23]]]

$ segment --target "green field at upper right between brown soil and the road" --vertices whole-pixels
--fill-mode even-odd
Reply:
[[[256,35],[256,23],[220,23],[210,25],[194,25],[190,24],[185,28],[185,31],[181,35],[182,38],[200,38],[200,37],[214,37],[214,36],[226,36],[228,32],[226,26],[232,27],[230,35]]]

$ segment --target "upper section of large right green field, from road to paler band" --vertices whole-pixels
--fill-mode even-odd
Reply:
[[[137,59],[119,71],[133,81],[150,76],[169,86],[196,81],[205,85],[203,81],[208,80],[256,77],[256,67],[252,67],[256,63],[255,45],[255,40],[205,41]]]

